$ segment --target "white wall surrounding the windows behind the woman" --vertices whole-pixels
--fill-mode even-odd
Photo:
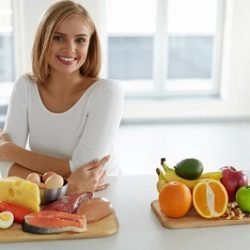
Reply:
[[[221,76],[223,98],[126,100],[124,119],[250,119],[250,1],[225,1],[226,26]],[[15,33],[19,74],[30,69],[31,48],[37,22],[41,13],[55,0],[14,2],[19,9]],[[104,25],[104,0],[79,2],[88,9],[101,31]]]

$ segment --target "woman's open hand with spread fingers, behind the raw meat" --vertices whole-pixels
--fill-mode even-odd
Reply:
[[[68,178],[67,194],[97,192],[106,189],[109,184],[104,183],[106,171],[103,166],[108,162],[110,156],[96,160],[81,166]]]

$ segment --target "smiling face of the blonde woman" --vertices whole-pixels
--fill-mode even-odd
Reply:
[[[48,63],[51,73],[79,72],[85,62],[91,37],[90,28],[78,15],[70,15],[56,28]]]

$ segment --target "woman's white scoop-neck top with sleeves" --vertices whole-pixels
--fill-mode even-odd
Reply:
[[[105,155],[112,159],[122,110],[123,93],[115,81],[97,80],[69,110],[53,113],[44,106],[37,84],[22,76],[13,88],[4,131],[20,147],[28,140],[33,152],[68,159],[73,172]],[[115,164],[110,160],[107,168]],[[3,177],[11,163],[1,165]]]

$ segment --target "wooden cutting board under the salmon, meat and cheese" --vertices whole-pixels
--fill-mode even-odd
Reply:
[[[88,230],[84,233],[31,234],[23,232],[22,226],[14,223],[11,228],[0,229],[0,243],[106,237],[115,234],[118,227],[118,220],[114,212],[98,222],[89,223]]]

